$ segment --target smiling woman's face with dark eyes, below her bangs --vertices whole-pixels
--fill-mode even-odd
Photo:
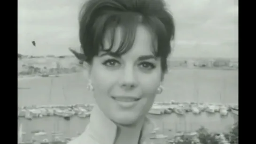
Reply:
[[[113,52],[121,40],[121,29],[116,30]],[[104,47],[110,46],[106,36]],[[121,55],[100,52],[93,58],[90,80],[94,98],[101,111],[112,121],[131,125],[143,118],[151,108],[161,83],[160,58],[153,54],[152,33],[139,25],[132,48]]]

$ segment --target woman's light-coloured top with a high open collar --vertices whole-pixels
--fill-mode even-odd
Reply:
[[[155,123],[146,118],[142,128],[140,144],[149,144],[146,142],[148,142],[150,133],[155,128]],[[69,144],[114,144],[116,132],[116,124],[109,120],[98,106],[94,106],[85,132]]]

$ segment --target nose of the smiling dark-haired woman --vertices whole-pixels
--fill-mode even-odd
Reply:
[[[123,73],[120,76],[120,86],[125,90],[131,90],[138,85],[138,79],[134,74],[133,68],[124,68]]]

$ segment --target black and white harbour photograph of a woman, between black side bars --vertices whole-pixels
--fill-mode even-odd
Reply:
[[[238,0],[18,0],[18,144],[239,144]]]

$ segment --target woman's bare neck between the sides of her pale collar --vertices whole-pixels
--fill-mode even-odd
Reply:
[[[144,118],[131,126],[117,125],[115,144],[138,144]]]

